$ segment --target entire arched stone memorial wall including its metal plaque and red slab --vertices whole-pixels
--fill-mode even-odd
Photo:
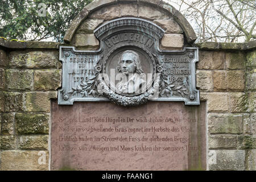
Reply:
[[[162,0],[95,0],[65,43],[0,39],[0,170],[255,170],[255,41],[195,40]]]

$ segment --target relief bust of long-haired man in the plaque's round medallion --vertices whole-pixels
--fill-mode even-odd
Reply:
[[[115,88],[121,93],[140,93],[146,86],[146,75],[141,67],[141,59],[135,51],[124,51],[118,61],[120,80]]]

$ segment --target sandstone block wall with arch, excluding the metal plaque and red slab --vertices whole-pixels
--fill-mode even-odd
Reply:
[[[104,2],[112,3],[102,6]],[[150,20],[166,30],[161,49],[199,47],[196,82],[200,100],[207,101],[208,169],[255,170],[255,42],[193,44],[185,23],[166,6],[153,6],[149,2],[155,1],[149,0],[127,2],[96,1],[86,6],[85,17],[74,20],[81,23],[67,31],[67,44],[0,40],[0,170],[49,169],[51,100],[61,87],[58,46],[98,49],[93,31],[124,16]]]

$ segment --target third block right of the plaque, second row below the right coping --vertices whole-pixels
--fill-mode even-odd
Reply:
[[[227,72],[228,89],[232,91],[245,90],[245,72],[244,71],[228,71]]]

